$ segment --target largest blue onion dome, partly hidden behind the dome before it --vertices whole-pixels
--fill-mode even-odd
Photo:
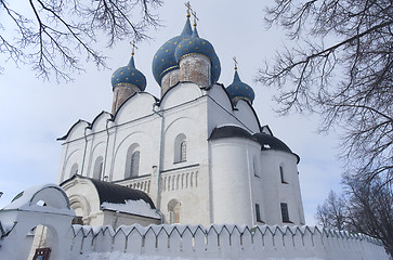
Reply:
[[[154,78],[159,86],[161,86],[161,79],[167,73],[179,68],[179,64],[174,58],[174,51],[176,46],[184,38],[191,37],[192,34],[189,16],[187,16],[182,34],[163,43],[154,55],[152,69]]]

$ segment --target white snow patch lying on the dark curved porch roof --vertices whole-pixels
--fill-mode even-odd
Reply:
[[[143,217],[160,219],[156,209],[153,209],[148,203],[143,199],[132,200],[128,199],[123,204],[103,203],[102,209],[119,211],[123,213],[139,214]]]

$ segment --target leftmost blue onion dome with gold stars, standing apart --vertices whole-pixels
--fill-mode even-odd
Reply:
[[[132,84],[137,87],[141,91],[146,89],[146,77],[135,68],[134,54],[131,54],[129,64],[120,67],[112,75],[112,87],[118,84]]]

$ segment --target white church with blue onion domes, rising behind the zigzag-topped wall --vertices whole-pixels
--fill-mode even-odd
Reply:
[[[154,56],[159,99],[136,62],[113,74],[112,113],[60,139],[57,180],[83,224],[304,224],[299,156],[261,126],[236,65],[232,84],[218,82],[220,60],[189,15]],[[157,212],[117,210],[139,199]]]

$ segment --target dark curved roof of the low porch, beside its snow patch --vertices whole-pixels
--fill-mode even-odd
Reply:
[[[146,193],[139,191],[139,190],[133,190],[131,187],[114,184],[112,182],[104,182],[104,181],[91,179],[88,177],[74,174],[70,179],[64,181],[63,183],[68,182],[69,180],[75,179],[75,178],[87,179],[87,180],[90,180],[94,184],[94,186],[99,193],[100,205],[102,205],[103,203],[125,204],[126,200],[142,199],[146,204],[149,204],[153,209],[156,208],[154,206],[152,198]],[[60,185],[62,186],[63,183],[61,183]]]

